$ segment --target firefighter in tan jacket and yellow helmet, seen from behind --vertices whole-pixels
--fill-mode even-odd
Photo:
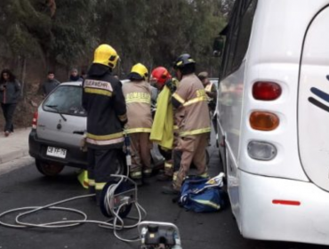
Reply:
[[[138,185],[152,173],[152,143],[149,133],[152,127],[151,90],[148,84],[148,68],[138,63],[132,67],[128,75],[130,82],[123,87],[127,105],[128,123],[125,131],[129,134],[132,146],[132,166],[130,177]]]

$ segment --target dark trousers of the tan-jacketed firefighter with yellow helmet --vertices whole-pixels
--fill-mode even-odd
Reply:
[[[130,177],[132,179],[141,179],[142,175],[150,175],[151,168],[151,149],[152,143],[149,141],[149,133],[130,133],[132,146],[132,167],[130,168]]]

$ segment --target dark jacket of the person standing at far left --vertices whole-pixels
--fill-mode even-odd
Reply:
[[[0,84],[0,102],[4,104],[16,104],[20,99],[20,82],[6,82]]]

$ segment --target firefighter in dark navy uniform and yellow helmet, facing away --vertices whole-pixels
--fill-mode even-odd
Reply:
[[[124,146],[123,127],[127,122],[122,84],[112,76],[119,56],[108,44],[100,44],[94,52],[92,66],[84,79],[83,106],[87,111],[86,144],[88,149],[88,185],[100,193],[116,173],[117,158]]]

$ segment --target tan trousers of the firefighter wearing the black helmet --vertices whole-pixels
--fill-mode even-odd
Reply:
[[[189,174],[189,167],[193,162],[197,167],[197,175],[207,177],[207,165],[205,149],[208,146],[210,133],[201,133],[189,137],[180,138],[177,146],[177,158],[181,159],[181,167],[173,174],[173,188],[181,190],[181,183]],[[179,153],[181,151],[181,153]],[[176,161],[175,160],[175,161]]]

